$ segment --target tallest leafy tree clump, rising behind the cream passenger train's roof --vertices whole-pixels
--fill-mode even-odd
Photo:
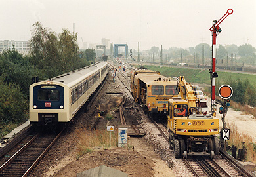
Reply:
[[[47,78],[81,68],[81,64],[85,63],[79,60],[77,33],[71,34],[67,29],[57,35],[36,22],[30,47],[32,64],[44,70]]]

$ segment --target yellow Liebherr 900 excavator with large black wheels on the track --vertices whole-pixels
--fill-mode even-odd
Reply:
[[[183,76],[178,81],[179,97],[168,101],[169,148],[176,158],[187,158],[189,153],[219,154],[219,119],[202,112],[200,100]]]

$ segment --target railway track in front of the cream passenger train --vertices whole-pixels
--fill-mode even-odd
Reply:
[[[56,134],[39,132],[0,167],[0,176],[28,176],[63,130]]]

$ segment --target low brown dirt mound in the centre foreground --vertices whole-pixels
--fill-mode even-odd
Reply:
[[[116,147],[104,151],[93,151],[61,168],[56,176],[76,176],[77,173],[106,165],[127,173],[129,176],[153,176],[154,161],[146,159],[136,151]],[[55,175],[54,175],[55,176]]]

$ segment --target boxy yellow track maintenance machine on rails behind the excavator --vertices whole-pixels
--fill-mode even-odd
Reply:
[[[167,113],[169,98],[178,95],[177,81],[145,69],[131,73],[131,90],[135,102],[150,113]]]

